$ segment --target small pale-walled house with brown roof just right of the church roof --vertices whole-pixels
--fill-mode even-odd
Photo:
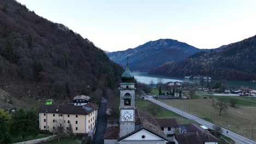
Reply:
[[[174,141],[173,137],[176,131],[176,128],[179,127],[175,118],[158,118],[156,119],[158,124],[160,125],[162,131],[167,137],[167,140]]]

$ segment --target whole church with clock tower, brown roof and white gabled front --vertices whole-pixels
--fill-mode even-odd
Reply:
[[[167,143],[153,115],[136,107],[134,76],[128,62],[121,79],[119,125],[106,128],[104,143]]]

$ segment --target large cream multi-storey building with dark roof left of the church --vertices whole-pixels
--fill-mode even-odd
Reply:
[[[54,132],[57,128],[73,133],[88,134],[94,130],[97,119],[96,104],[76,105],[41,105],[39,107],[39,129]]]

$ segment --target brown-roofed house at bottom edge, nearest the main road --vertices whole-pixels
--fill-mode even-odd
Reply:
[[[205,127],[197,124],[183,124],[179,126],[180,133],[175,134],[175,144],[218,144],[217,137],[213,136]]]

